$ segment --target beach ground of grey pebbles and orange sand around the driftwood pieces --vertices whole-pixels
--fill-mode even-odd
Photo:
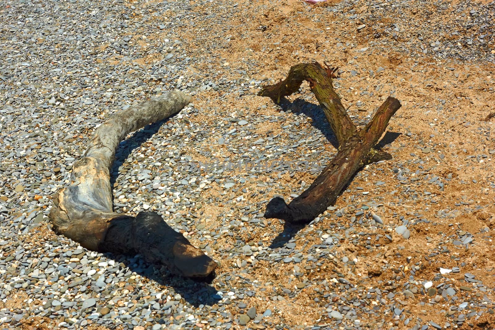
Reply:
[[[0,329],[495,329],[495,2],[0,0]],[[263,217],[337,153],[292,65],[339,67],[380,147],[307,226]],[[116,212],[155,211],[219,263],[183,279],[50,229],[51,196],[113,113],[193,102],[131,133]]]

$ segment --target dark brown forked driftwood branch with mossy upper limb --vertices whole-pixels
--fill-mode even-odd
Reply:
[[[335,203],[356,171],[366,164],[392,159],[390,154],[376,149],[375,145],[385,132],[390,118],[400,108],[400,102],[394,97],[388,97],[371,121],[358,130],[333,88],[332,79],[335,78],[336,71],[337,69],[328,66],[324,68],[317,62],[297,64],[291,67],[284,81],[267,86],[258,94],[279,103],[282,96],[297,92],[301,83],[306,80],[339,143],[337,155],[313,184],[289,205],[281,197],[271,199],[266,207],[265,218],[309,223]]]

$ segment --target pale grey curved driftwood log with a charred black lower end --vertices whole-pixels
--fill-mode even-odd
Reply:
[[[72,169],[70,183],[53,196],[53,230],[99,252],[140,253],[185,277],[208,276],[217,264],[155,212],[136,218],[113,212],[110,167],[120,141],[130,132],[179,112],[191,98],[169,92],[112,115],[88,141]]]

